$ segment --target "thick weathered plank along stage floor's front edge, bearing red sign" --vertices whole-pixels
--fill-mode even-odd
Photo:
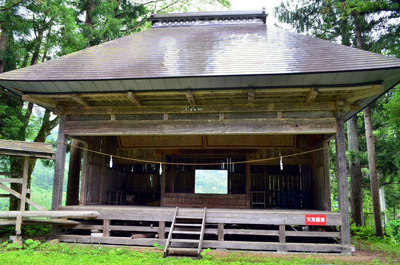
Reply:
[[[144,205],[75,205],[61,206],[59,210],[93,210],[99,212],[97,219],[172,221],[176,207]],[[184,216],[202,217],[204,208],[179,207]],[[207,223],[290,224],[305,225],[305,214],[325,214],[326,225],[341,225],[340,213],[313,209],[229,209],[207,208]]]

